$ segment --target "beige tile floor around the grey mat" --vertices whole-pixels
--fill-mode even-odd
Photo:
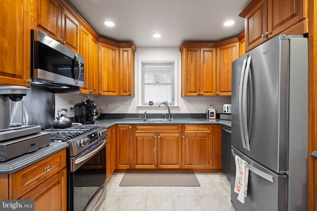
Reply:
[[[124,187],[122,176],[111,176],[99,211],[234,211],[223,173],[196,173],[200,187]]]

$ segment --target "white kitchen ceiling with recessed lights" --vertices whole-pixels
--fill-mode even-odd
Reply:
[[[238,14],[251,0],[68,0],[103,38],[136,47],[180,47],[184,42],[219,42],[244,31]],[[104,25],[111,20],[115,26]],[[231,27],[223,26],[235,21]],[[161,33],[159,39],[153,33]]]

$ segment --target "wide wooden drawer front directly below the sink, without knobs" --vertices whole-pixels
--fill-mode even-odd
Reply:
[[[136,132],[181,132],[181,125],[133,125],[133,133]]]

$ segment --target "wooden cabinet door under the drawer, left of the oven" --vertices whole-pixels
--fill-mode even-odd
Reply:
[[[34,200],[35,211],[67,211],[67,171],[58,171],[19,200]]]

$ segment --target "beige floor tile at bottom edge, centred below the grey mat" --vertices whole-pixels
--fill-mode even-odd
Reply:
[[[173,211],[171,195],[148,195],[145,211]]]

